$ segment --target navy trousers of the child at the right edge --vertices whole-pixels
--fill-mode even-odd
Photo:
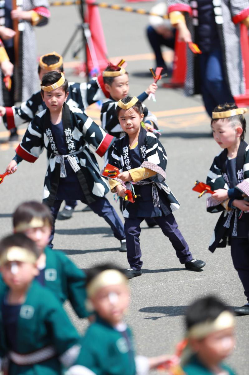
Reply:
[[[245,296],[249,302],[249,242],[247,238],[230,239],[233,265],[242,282]]]

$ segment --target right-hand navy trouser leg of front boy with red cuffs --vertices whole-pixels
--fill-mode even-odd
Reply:
[[[105,221],[110,225],[114,237],[120,241],[125,239],[124,225],[107,198],[101,197],[97,201],[90,203],[89,207],[94,213],[105,219]]]

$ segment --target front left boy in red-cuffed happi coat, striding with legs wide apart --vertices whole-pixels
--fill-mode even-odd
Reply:
[[[78,199],[103,217],[126,251],[123,224],[105,194],[109,187],[99,175],[99,166],[91,145],[99,156],[108,150],[114,138],[80,109],[68,106],[68,83],[63,73],[49,72],[42,80],[42,96],[47,109],[31,121],[16,156],[7,169],[15,171],[22,159],[35,162],[44,147],[50,154],[44,181],[43,202],[51,207],[56,220],[64,199]],[[54,227],[51,232],[50,246]]]

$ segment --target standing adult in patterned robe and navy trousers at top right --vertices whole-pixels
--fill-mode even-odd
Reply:
[[[186,95],[201,93],[207,113],[220,103],[245,94],[242,44],[248,43],[248,0],[168,0],[171,23],[184,42],[195,42],[202,54],[187,49]],[[246,26],[245,26],[246,25]]]

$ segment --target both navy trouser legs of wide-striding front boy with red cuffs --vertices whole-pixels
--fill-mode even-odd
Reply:
[[[52,241],[53,241],[53,236],[55,234],[55,220],[58,215],[62,202],[63,202],[62,200],[56,199],[53,207],[50,207],[50,210],[54,219],[53,228],[50,234],[49,245],[48,245],[50,248],[53,247]],[[103,217],[105,219],[105,221],[110,225],[113,231],[114,237],[116,237],[116,239],[120,241],[125,239],[123,223],[107,198],[101,197],[97,201],[90,203],[89,207],[94,213],[96,213],[98,216]]]

